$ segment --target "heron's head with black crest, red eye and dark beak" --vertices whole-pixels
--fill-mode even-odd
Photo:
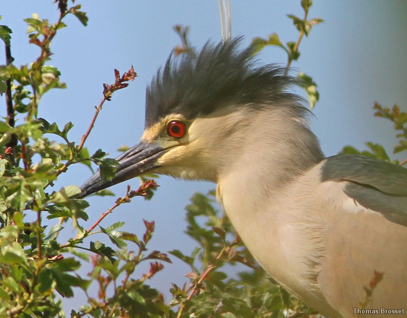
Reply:
[[[295,79],[285,68],[257,66],[253,49],[240,50],[239,42],[207,43],[176,61],[170,56],[147,88],[140,142],[117,158],[114,178],[103,182],[97,172],[82,185],[82,196],[147,172],[216,182],[242,148],[273,130],[259,126],[279,125],[287,134],[285,117],[304,122],[307,109],[287,92]],[[282,104],[284,111],[274,107],[275,124],[265,120],[265,109]]]

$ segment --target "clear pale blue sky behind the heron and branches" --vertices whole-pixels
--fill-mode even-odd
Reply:
[[[33,61],[39,49],[28,44],[23,19],[35,12],[55,22],[56,6],[51,0],[0,3],[3,3],[0,23],[13,30],[15,65]],[[90,153],[102,148],[116,157],[119,146],[133,146],[142,134],[146,85],[180,42],[172,26],[189,25],[190,41],[197,48],[208,40],[220,41],[218,2],[83,0],[75,4],[78,3],[88,13],[88,26],[69,16],[65,21],[68,27],[53,41],[54,55],[49,62],[61,71],[61,80],[68,88],[45,95],[39,116],[59,126],[73,122],[75,126],[69,137],[78,143],[93,117],[94,106],[102,97],[102,83],[113,81],[114,68],[123,73],[133,65],[138,77],[129,88],[115,93],[112,101],[105,103],[86,142]],[[286,14],[302,17],[300,1],[231,0],[232,36],[244,36],[243,45],[248,45],[253,37],[267,37],[273,32],[283,42],[295,41],[298,33]],[[407,2],[319,0],[314,1],[309,17],[321,17],[326,22],[315,26],[309,38],[303,39],[300,60],[292,66],[312,76],[318,84],[321,99],[314,109],[312,128],[323,151],[331,156],[347,144],[365,149],[364,142],[374,141],[384,144],[392,153],[395,143],[392,125],[374,118],[372,106],[377,101],[387,107],[398,104],[407,110]],[[265,48],[259,59],[261,63],[286,63],[285,53],[277,47]],[[2,98],[0,115],[5,114]],[[85,166],[72,166],[55,188],[80,185],[90,176]],[[138,186],[138,180],[128,183],[134,188]],[[128,183],[112,190],[123,195]],[[125,230],[140,234],[143,218],[155,220],[156,233],[150,248],[161,251],[177,248],[187,253],[194,245],[183,233],[184,207],[193,192],[207,192],[214,185],[169,177],[160,178],[158,183],[161,187],[153,200],[134,199],[109,215],[104,224],[124,220]],[[114,198],[89,201],[89,222],[92,222],[112,206]],[[70,235],[69,226],[66,231]],[[170,282],[182,284],[187,271],[183,264],[174,262],[166,265],[151,283],[166,292]],[[79,305],[77,299],[64,303],[67,311]]]

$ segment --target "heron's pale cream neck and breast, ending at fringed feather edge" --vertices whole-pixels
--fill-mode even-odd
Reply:
[[[250,140],[244,140],[240,155],[220,174],[217,197],[259,263],[299,295],[297,275],[304,259],[293,248],[298,242],[292,224],[299,212],[293,208],[298,191],[289,193],[295,181],[317,170],[324,156],[305,121],[285,109],[262,112],[251,125]],[[315,184],[305,186],[315,188],[318,178],[312,180]]]

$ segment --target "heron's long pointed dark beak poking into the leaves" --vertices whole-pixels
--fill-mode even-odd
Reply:
[[[96,172],[80,187],[82,193],[79,197],[93,194],[158,168],[160,165],[157,163],[157,159],[169,148],[163,148],[156,142],[146,143],[140,141],[136,146],[116,158],[119,161],[119,166],[114,178],[104,182],[100,177],[100,172]]]

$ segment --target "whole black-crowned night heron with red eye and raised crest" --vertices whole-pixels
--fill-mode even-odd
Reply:
[[[376,271],[383,280],[364,309],[407,310],[407,169],[324,157],[310,111],[287,92],[295,80],[257,66],[238,43],[169,59],[147,89],[141,141],[117,158],[113,179],[95,174],[82,196],[146,172],[215,182],[248,249],[293,295],[352,317]]]

